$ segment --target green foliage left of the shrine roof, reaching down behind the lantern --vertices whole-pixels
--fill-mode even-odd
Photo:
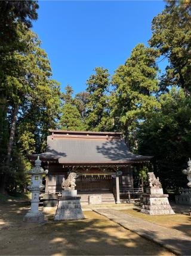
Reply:
[[[25,170],[29,162],[25,155],[45,150],[48,129],[56,127],[61,103],[60,85],[51,79],[50,62],[40,48],[37,35],[20,22],[17,22],[17,35],[24,47],[6,53],[0,64],[3,146],[0,168],[1,174],[7,177],[8,191],[26,185]],[[9,162],[8,151],[11,152]]]

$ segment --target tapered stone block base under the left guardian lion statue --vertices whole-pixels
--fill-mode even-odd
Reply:
[[[54,221],[85,219],[80,199],[81,197],[69,196],[60,198],[57,204],[56,214],[54,215]]]

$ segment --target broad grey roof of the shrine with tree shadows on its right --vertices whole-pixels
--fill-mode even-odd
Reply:
[[[59,138],[48,136],[47,152],[41,159],[57,159],[61,164],[117,164],[148,161],[152,156],[135,155],[130,152],[124,139],[118,138]],[[33,158],[36,155],[30,155]]]

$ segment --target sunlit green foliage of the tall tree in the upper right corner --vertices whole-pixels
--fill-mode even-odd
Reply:
[[[191,2],[167,1],[167,7],[152,22],[150,45],[159,49],[169,65],[161,87],[181,86],[187,95],[191,91]]]

